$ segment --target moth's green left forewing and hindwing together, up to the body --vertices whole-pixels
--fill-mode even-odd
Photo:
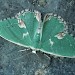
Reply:
[[[0,36],[18,45],[32,46],[32,37],[38,26],[34,16],[28,11],[19,13],[16,18],[0,21]]]

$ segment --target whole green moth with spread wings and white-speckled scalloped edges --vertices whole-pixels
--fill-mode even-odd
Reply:
[[[0,21],[0,36],[45,53],[75,56],[75,40],[68,34],[66,22],[56,14],[48,13],[42,21],[40,12],[22,11],[14,18]]]

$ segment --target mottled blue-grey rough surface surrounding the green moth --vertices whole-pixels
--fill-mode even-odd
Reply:
[[[43,16],[48,12],[62,16],[69,34],[75,36],[75,0],[0,0],[0,20],[27,8],[36,9]],[[33,54],[31,49],[0,38],[0,75],[75,75],[75,58]]]

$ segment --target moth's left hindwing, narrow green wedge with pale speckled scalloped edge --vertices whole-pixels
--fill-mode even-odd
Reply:
[[[41,15],[40,12],[34,10],[23,12],[22,15],[18,16],[18,18],[21,18],[25,23],[26,29],[30,35],[31,40],[33,40],[34,35],[39,26],[38,15]]]

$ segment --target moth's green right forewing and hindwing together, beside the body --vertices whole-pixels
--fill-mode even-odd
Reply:
[[[64,24],[57,17],[48,18],[43,27],[41,50],[58,56],[75,56],[75,40],[64,32]]]

